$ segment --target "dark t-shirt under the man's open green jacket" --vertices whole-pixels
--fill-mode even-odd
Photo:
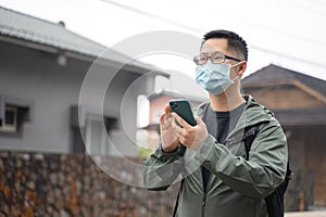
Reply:
[[[220,143],[223,143],[229,132],[236,127],[244,107],[246,104],[242,103],[233,111],[215,112],[211,106],[208,106],[203,122],[206,125],[209,133],[214,136]],[[202,178],[205,190],[210,178],[210,171],[205,167],[202,167]]]

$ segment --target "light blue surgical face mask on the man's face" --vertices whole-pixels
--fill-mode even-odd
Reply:
[[[230,85],[235,84],[234,81],[238,78],[237,76],[233,80],[229,79],[231,67],[227,63],[216,64],[209,61],[206,64],[196,67],[196,81],[210,93],[215,95],[221,94]]]

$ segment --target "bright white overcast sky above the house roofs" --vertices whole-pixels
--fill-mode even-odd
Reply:
[[[0,0],[0,5],[51,22],[64,21],[66,28],[106,47],[152,30],[201,38],[212,29],[229,29],[249,44],[247,74],[274,63],[326,80],[323,0]],[[181,59],[153,53],[141,61],[191,77],[195,65]]]

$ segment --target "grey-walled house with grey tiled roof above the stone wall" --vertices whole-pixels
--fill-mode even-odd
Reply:
[[[137,97],[156,76],[63,22],[0,8],[0,150],[135,156]]]

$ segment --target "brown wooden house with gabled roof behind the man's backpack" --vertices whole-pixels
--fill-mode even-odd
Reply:
[[[294,173],[289,200],[297,207],[326,206],[326,81],[268,65],[243,78],[244,93],[271,108],[284,127]],[[293,204],[291,204],[293,203]]]

